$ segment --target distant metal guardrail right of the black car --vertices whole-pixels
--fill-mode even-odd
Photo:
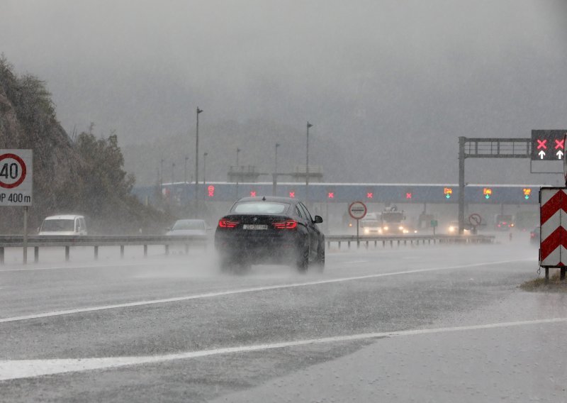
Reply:
[[[359,236],[356,235],[326,235],[325,242],[327,243],[327,248],[331,247],[331,243],[338,243],[339,249],[341,243],[347,243],[348,248],[350,248],[351,243],[356,243],[357,248],[360,245],[365,245],[366,248],[369,247],[371,243],[377,247],[378,243],[381,243],[383,247],[389,245],[425,245],[436,244],[436,243],[493,243],[495,236],[486,235],[400,235],[400,236]]]

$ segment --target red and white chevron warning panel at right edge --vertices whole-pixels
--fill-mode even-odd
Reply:
[[[567,262],[567,188],[539,189],[541,267],[565,267]]]

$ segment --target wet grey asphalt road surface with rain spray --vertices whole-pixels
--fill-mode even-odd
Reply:
[[[565,402],[565,294],[537,249],[327,250],[325,272],[211,250],[0,267],[6,402]]]

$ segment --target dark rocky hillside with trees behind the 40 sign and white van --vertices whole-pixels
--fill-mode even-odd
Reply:
[[[162,214],[130,194],[134,179],[123,170],[118,138],[81,133],[69,138],[55,114],[45,84],[18,76],[0,57],[0,148],[33,150],[33,206],[30,225],[45,216],[84,214],[91,232],[163,228]],[[21,232],[23,208],[0,207],[0,233]],[[33,232],[33,231],[32,231]]]

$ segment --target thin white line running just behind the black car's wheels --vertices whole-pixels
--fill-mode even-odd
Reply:
[[[532,259],[501,260],[501,261],[498,261],[498,262],[473,263],[473,264],[470,264],[470,265],[459,265],[459,266],[450,266],[450,267],[431,267],[431,268],[427,268],[427,269],[405,270],[403,272],[388,272],[388,273],[380,273],[380,274],[375,274],[375,275],[364,275],[364,276],[357,276],[357,277],[340,277],[340,278],[335,278],[335,279],[330,279],[330,280],[296,282],[296,283],[282,284],[282,285],[267,285],[267,286],[263,286],[263,287],[232,289],[232,290],[228,290],[228,291],[208,292],[206,294],[188,295],[188,296],[184,296],[184,297],[150,299],[150,300],[147,300],[147,301],[126,302],[124,304],[102,305],[102,306],[99,306],[99,307],[66,309],[66,310],[63,310],[63,311],[51,311],[51,312],[45,312],[45,313],[42,313],[42,314],[13,316],[11,318],[0,319],[0,323],[25,321],[25,320],[28,320],[28,319],[40,319],[40,318],[48,318],[48,317],[52,317],[52,316],[62,316],[62,315],[69,315],[69,314],[82,314],[84,312],[103,311],[103,310],[106,310],[106,309],[140,307],[142,305],[152,305],[152,304],[165,304],[165,303],[168,303],[168,302],[187,301],[189,299],[222,297],[222,296],[225,296],[225,295],[232,295],[232,294],[245,294],[247,292],[268,291],[270,289],[307,287],[307,286],[310,286],[310,285],[323,285],[323,284],[331,284],[331,283],[335,283],[335,282],[365,280],[365,279],[376,278],[376,277],[386,277],[386,276],[394,276],[394,275],[408,275],[408,274],[412,274],[412,273],[432,272],[432,271],[439,271],[439,270],[464,269],[464,268],[468,268],[468,267],[479,267],[479,266],[485,266],[485,265],[500,265],[500,264],[503,264],[503,263],[517,263],[517,262],[524,262],[524,261],[531,261],[531,260]]]

